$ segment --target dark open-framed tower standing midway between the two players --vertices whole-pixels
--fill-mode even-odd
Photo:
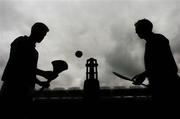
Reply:
[[[100,85],[98,81],[97,60],[90,58],[86,63],[86,80],[84,82],[84,94],[86,99],[96,100],[99,97]]]

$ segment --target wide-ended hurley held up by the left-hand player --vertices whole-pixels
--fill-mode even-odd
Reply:
[[[53,77],[51,77],[51,79],[48,79],[48,81],[46,82],[46,85],[43,85],[41,87],[41,89],[39,90],[39,92],[42,92],[45,88],[48,88],[50,86],[50,82],[54,79],[56,79],[56,77],[59,75],[59,73],[65,71],[68,69],[68,64],[63,61],[63,60],[54,60],[51,62],[53,65]]]

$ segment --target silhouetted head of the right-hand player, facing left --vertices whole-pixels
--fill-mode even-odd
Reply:
[[[135,24],[136,33],[141,39],[146,39],[152,33],[153,24],[147,19],[141,19]]]

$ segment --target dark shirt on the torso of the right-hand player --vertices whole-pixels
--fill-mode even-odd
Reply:
[[[169,41],[163,35],[153,34],[145,47],[145,68],[150,75],[176,74]]]

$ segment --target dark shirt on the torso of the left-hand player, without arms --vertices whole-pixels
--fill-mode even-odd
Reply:
[[[2,80],[13,83],[15,89],[20,92],[24,90],[24,93],[29,94],[35,85],[37,60],[38,52],[29,37],[18,37],[11,44],[10,57]]]

